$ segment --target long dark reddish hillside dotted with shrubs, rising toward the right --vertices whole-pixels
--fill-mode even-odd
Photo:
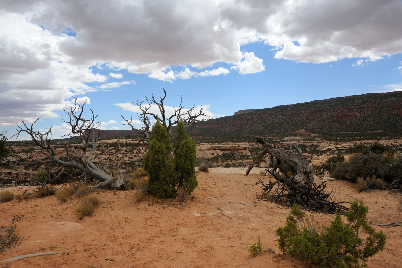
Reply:
[[[276,106],[216,118],[208,123],[189,134],[270,135],[301,129],[311,134],[402,131],[402,92],[369,93]]]

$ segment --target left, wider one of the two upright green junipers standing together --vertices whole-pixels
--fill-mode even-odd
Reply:
[[[158,198],[174,197],[174,187],[178,183],[176,177],[176,164],[170,156],[169,135],[159,121],[152,127],[148,152],[142,160],[142,166],[148,173],[150,192]]]

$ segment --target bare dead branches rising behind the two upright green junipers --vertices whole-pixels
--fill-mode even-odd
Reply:
[[[151,98],[148,98],[145,96],[146,101],[142,102],[131,102],[135,103],[139,110],[141,110],[141,113],[139,114],[138,118],[141,121],[141,127],[136,128],[133,126],[133,116],[131,116],[130,119],[125,119],[124,116],[121,116],[124,121],[127,123],[124,123],[123,125],[129,125],[132,130],[137,131],[138,134],[141,136],[139,139],[135,139],[134,141],[139,141],[143,143],[150,143],[150,135],[151,135],[151,119],[153,120],[158,120],[164,127],[166,127],[166,130],[168,131],[169,134],[169,139],[170,139],[170,144],[173,144],[173,139],[174,139],[174,134],[176,133],[176,129],[172,128],[174,125],[176,125],[178,122],[182,121],[184,123],[185,129],[188,128],[194,128],[196,127],[197,123],[205,123],[205,118],[202,118],[201,120],[199,119],[200,117],[208,117],[206,114],[203,113],[203,108],[201,106],[201,110],[198,112],[195,110],[195,104],[193,104],[193,107],[191,109],[185,109],[182,106],[183,103],[183,96],[179,96],[180,98],[180,106],[178,108],[174,107],[174,112],[171,115],[166,115],[166,110],[164,107],[163,101],[166,98],[166,91],[163,89],[164,96],[163,98],[160,98],[160,101],[156,101],[154,94],[151,94]],[[159,108],[159,114],[152,113],[150,112],[151,106],[156,105]]]

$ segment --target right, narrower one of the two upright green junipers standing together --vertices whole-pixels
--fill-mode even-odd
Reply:
[[[196,147],[195,142],[187,135],[183,122],[179,122],[173,142],[174,158],[176,160],[178,187],[184,189],[187,194],[191,194],[198,186],[195,176]]]

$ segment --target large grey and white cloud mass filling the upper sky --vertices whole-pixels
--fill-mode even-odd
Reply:
[[[297,62],[378,60],[402,52],[400,14],[399,0],[3,1],[0,124],[58,117],[74,93],[134,84],[105,83],[122,69],[169,82],[258,73],[263,60],[241,50],[253,42]]]

